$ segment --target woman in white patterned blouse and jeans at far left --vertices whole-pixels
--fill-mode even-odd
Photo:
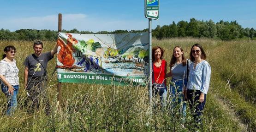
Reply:
[[[5,54],[0,61],[0,79],[1,89],[7,98],[7,115],[11,115],[17,107],[17,94],[19,89],[18,83],[18,67],[14,56],[16,48],[14,46],[6,46]]]

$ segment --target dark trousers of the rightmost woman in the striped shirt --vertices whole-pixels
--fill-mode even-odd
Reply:
[[[187,91],[187,98],[189,101],[189,106],[196,121],[197,128],[202,128],[202,111],[204,108],[204,104],[206,101],[206,94],[204,94],[204,101],[202,103],[199,102],[199,97],[201,95],[200,90],[190,90]]]

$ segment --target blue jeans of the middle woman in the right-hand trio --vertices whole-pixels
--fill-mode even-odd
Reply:
[[[176,80],[172,79],[170,84],[170,96],[171,96],[171,107],[174,108],[176,105],[182,103],[182,108],[180,108],[180,112],[183,114],[183,118],[186,116],[186,103],[185,95],[183,94],[183,90],[185,90],[185,86],[187,85],[187,79],[184,80]]]

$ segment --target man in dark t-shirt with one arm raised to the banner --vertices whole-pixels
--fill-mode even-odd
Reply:
[[[42,53],[43,44],[41,41],[36,41],[33,44],[33,49],[35,53],[27,56],[24,61],[24,87],[28,90],[28,99],[32,101],[31,107],[34,109],[36,106],[39,109],[39,99],[44,100],[46,96],[47,64],[49,60],[54,58],[57,44],[54,50]],[[47,105],[49,105],[48,99]],[[49,109],[48,107],[47,109]]]

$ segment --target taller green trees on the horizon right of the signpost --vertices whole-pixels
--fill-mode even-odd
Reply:
[[[197,37],[197,38],[217,38],[221,40],[233,40],[241,38],[256,39],[256,30],[253,28],[242,28],[238,22],[198,21],[191,18],[190,22],[173,22],[170,25],[160,27],[157,25],[152,33],[157,39],[173,37]]]

